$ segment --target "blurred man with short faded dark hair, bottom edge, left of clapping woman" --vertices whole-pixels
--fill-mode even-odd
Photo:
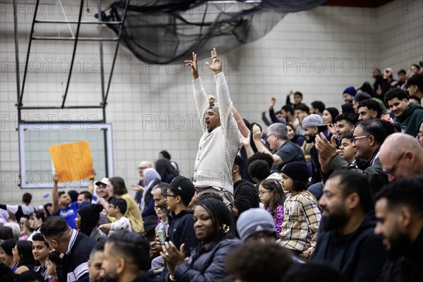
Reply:
[[[161,281],[149,273],[149,243],[140,233],[113,233],[104,245],[104,281]]]

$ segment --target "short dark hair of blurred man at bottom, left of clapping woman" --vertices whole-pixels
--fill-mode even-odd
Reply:
[[[121,253],[125,259],[136,264],[139,270],[149,270],[149,243],[140,233],[127,230],[116,232],[107,238],[107,243],[111,244],[114,252]]]

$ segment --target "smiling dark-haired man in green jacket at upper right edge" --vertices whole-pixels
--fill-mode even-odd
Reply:
[[[407,99],[407,92],[400,88],[389,90],[385,95],[385,102],[393,113],[393,121],[400,123],[405,128],[405,133],[415,137],[419,131],[419,125],[423,121],[422,106],[410,104]]]

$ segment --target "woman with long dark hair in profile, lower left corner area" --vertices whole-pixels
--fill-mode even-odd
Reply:
[[[30,241],[18,241],[12,249],[13,272],[22,274],[25,271],[34,269],[34,256],[32,255],[32,244]]]

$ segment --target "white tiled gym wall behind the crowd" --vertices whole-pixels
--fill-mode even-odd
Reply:
[[[8,5],[10,0],[2,1],[0,11],[0,202],[17,204],[22,190],[17,185],[15,47],[13,13]],[[377,9],[325,6],[289,14],[264,38],[222,56],[234,105],[243,117],[256,122],[261,122],[260,113],[267,109],[271,97],[277,98],[276,106],[283,106],[289,90],[305,94],[307,104],[319,99],[327,106],[339,106],[345,87],[359,87],[366,80],[372,82],[373,66],[390,66],[398,71],[422,56],[422,18],[422,1],[413,0],[397,0]],[[21,71],[31,21],[32,15],[20,12]],[[68,32],[67,28],[54,25],[45,28],[49,32],[60,31],[61,35]],[[89,34],[90,30],[84,32]],[[104,28],[104,35],[111,34]],[[66,86],[63,68],[67,66],[58,62],[71,57],[72,44],[37,42],[32,50],[33,66],[39,59],[44,69],[28,75],[25,105],[60,104]],[[106,74],[113,51],[112,44],[104,44]],[[209,54],[199,56],[203,60]],[[46,71],[49,58],[56,61],[51,71]],[[95,65],[95,60],[98,62],[98,45],[80,44],[76,60],[80,63],[75,65],[68,104],[99,102],[99,65]],[[97,73],[88,72],[91,66]],[[161,149],[171,153],[185,176],[192,174],[201,133],[197,119],[192,118],[195,106],[190,72],[182,66],[182,63],[151,66],[135,59],[124,47],[119,49],[106,111],[107,122],[114,129],[115,175],[125,178],[128,185],[137,180],[137,163],[143,159],[153,161]],[[209,72],[201,75],[207,92],[214,94],[213,75]],[[52,113],[76,117],[82,114],[85,118],[88,114],[100,114],[99,111]],[[177,115],[183,117],[183,125]],[[31,192],[35,204],[51,200],[51,195],[43,198],[50,192],[47,189]]]

